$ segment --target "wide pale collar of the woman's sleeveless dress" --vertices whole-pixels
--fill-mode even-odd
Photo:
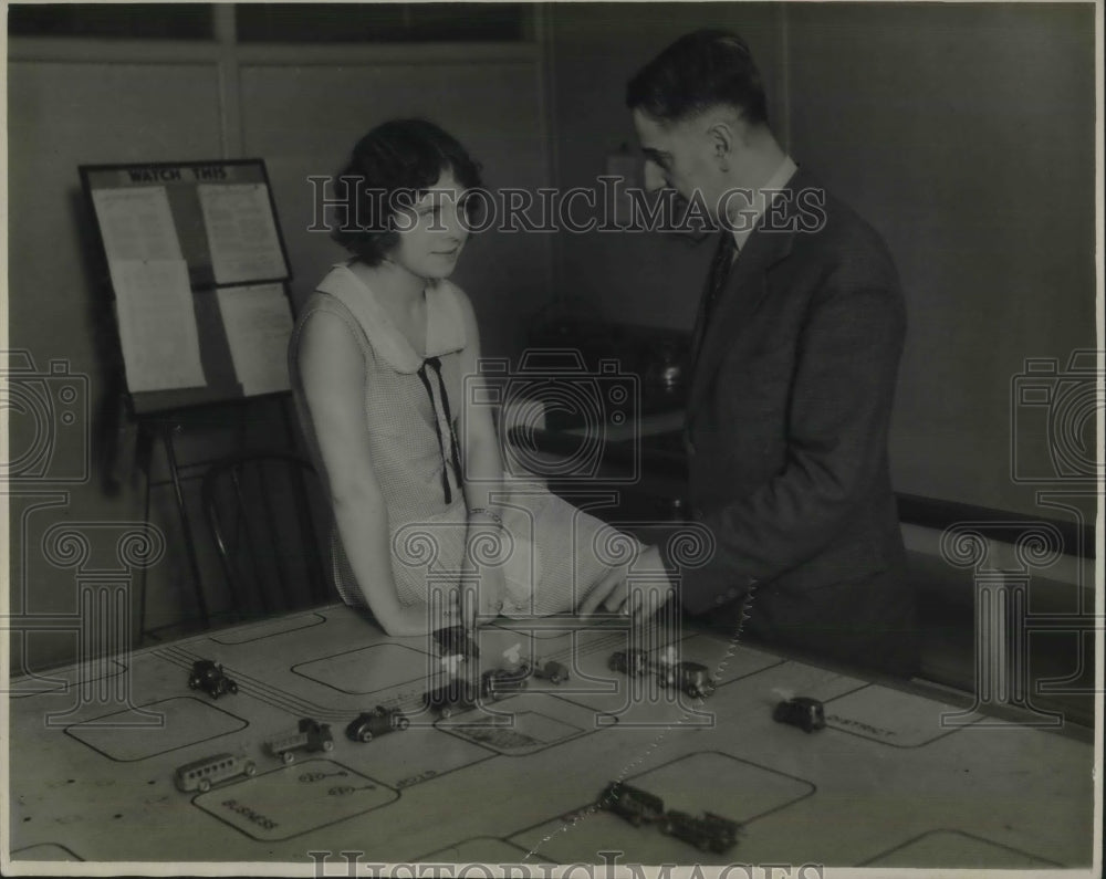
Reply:
[[[368,336],[373,349],[397,373],[417,373],[424,357],[388,317],[373,291],[346,263],[335,264],[317,287],[340,300]],[[465,347],[465,323],[457,287],[449,281],[426,289],[426,357],[441,357]]]

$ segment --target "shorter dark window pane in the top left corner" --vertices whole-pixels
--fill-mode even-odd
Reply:
[[[13,3],[8,34],[211,40],[215,25],[209,3]]]

